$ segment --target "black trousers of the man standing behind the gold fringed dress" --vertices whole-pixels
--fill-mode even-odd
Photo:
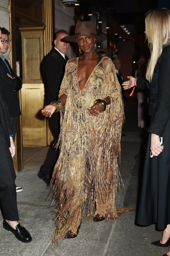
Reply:
[[[53,141],[53,144],[55,143],[55,141],[57,140],[59,134],[60,134],[60,112],[54,113],[51,117],[51,126],[55,132],[56,135],[56,139]],[[41,171],[44,174],[50,175],[52,176],[53,170],[54,170],[54,166],[56,164],[56,161],[59,157],[59,148],[55,148],[54,146],[51,146],[51,150],[49,152],[48,158],[46,160],[46,162],[44,163],[44,165],[41,166]]]

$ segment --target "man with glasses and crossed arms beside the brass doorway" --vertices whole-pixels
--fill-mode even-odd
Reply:
[[[17,131],[17,116],[21,115],[19,98],[17,92],[22,88],[22,80],[18,77],[14,70],[12,70],[10,63],[4,58],[3,54],[7,52],[10,46],[10,32],[1,28],[2,32],[2,47],[0,49],[0,63],[3,66],[5,75],[5,87],[7,90],[7,104],[10,111],[11,126],[13,129],[13,141],[15,141],[16,131]],[[21,187],[16,187],[17,192],[21,192],[23,189]]]

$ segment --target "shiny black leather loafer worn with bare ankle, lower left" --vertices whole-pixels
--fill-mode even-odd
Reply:
[[[25,229],[20,223],[16,225],[16,229],[12,228],[10,224],[7,223],[6,219],[3,221],[3,227],[11,231],[14,236],[23,243],[29,243],[32,241],[30,233]]]

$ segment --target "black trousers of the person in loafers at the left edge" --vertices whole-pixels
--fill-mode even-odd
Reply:
[[[13,160],[0,124],[0,197],[7,221],[19,221],[15,179]]]

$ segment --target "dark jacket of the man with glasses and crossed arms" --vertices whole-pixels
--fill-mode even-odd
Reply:
[[[5,62],[7,63],[11,71],[11,76],[13,78],[15,77],[14,79],[12,79],[11,77],[7,76],[7,73],[10,74],[10,72],[6,67],[6,64],[4,63],[4,61],[0,58],[0,63],[3,66],[4,75],[5,75],[5,87],[7,90],[7,104],[9,106],[10,117],[17,117],[21,115],[17,91],[19,91],[22,88],[22,81],[12,70],[10,63],[6,59],[5,59]]]

